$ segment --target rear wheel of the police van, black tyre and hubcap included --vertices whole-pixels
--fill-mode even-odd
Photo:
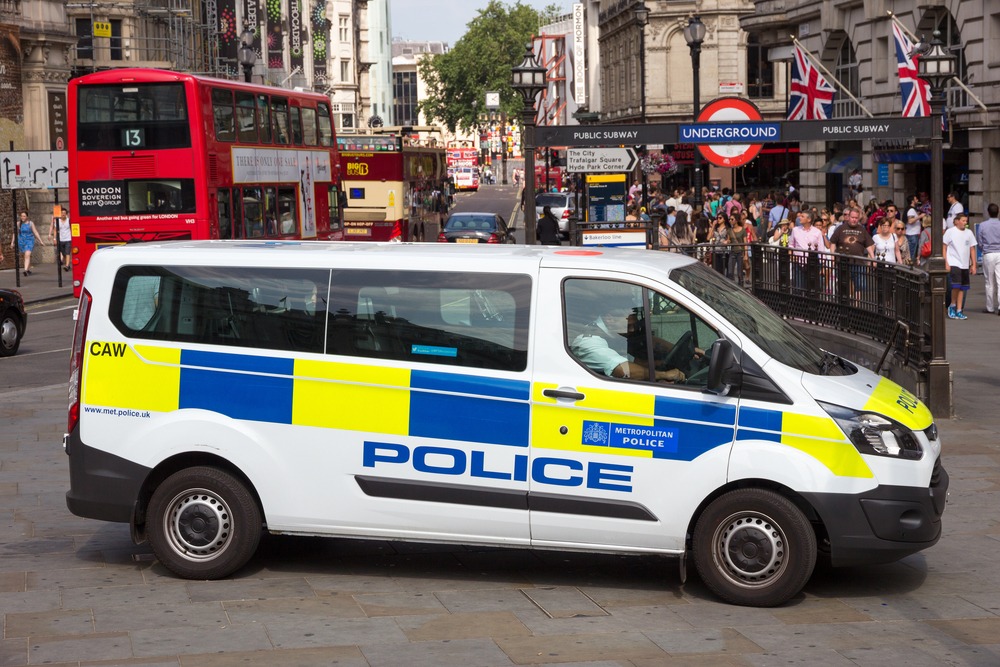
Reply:
[[[238,479],[199,466],[174,473],[146,512],[150,546],[185,579],[220,579],[243,567],[260,542],[261,512]]]

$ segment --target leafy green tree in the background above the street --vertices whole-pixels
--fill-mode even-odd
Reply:
[[[451,51],[421,61],[427,97],[420,110],[452,132],[456,128],[468,131],[484,111],[486,91],[496,90],[501,109],[516,118],[523,103],[511,87],[510,68],[520,64],[524,46],[538,33],[542,16],[552,12],[558,15],[559,7],[550,5],[538,12],[521,0],[513,5],[490,0]]]

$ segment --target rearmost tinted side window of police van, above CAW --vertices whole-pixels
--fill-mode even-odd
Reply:
[[[111,321],[130,338],[323,352],[330,272],[127,266]]]

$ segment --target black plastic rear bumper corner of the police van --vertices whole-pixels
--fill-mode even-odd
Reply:
[[[79,426],[69,434],[66,453],[69,511],[85,519],[130,523],[150,469],[83,444]]]

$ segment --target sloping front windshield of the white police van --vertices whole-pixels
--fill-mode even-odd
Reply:
[[[704,264],[670,272],[670,279],[727,319],[772,358],[813,375],[853,375],[856,369],[813,345],[760,300]]]

